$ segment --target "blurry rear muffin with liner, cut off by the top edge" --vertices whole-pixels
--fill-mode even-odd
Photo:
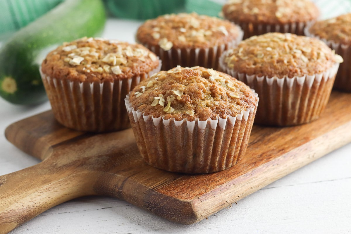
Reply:
[[[309,0],[230,0],[223,16],[244,31],[244,39],[269,32],[304,34],[305,26],[318,18]]]

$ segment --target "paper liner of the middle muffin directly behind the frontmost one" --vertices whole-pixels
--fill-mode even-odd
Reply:
[[[218,59],[220,55],[227,49],[233,48],[239,44],[243,39],[243,31],[239,29],[238,37],[226,44],[219,46],[212,46],[210,48],[174,48],[165,51],[159,45],[148,45],[141,42],[146,48],[150,49],[162,60],[162,70],[168,71],[178,65],[182,67],[206,67],[213,68],[214,70],[218,69]]]

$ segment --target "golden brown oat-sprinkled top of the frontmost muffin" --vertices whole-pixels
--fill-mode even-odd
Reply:
[[[130,93],[134,110],[155,118],[175,120],[237,116],[258,101],[243,82],[204,67],[177,66],[140,82]]]

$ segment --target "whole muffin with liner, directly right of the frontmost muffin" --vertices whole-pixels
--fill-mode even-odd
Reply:
[[[258,93],[255,123],[292,126],[319,117],[340,62],[342,58],[316,38],[267,33],[224,52],[220,66]]]

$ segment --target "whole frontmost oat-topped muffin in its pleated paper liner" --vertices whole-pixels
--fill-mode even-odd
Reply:
[[[230,168],[245,154],[258,97],[227,74],[177,66],[140,82],[125,103],[149,165],[211,173]]]

